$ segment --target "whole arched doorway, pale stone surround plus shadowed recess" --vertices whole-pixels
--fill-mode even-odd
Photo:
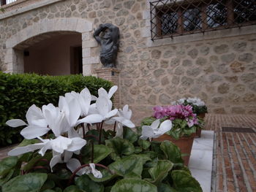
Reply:
[[[92,23],[80,18],[40,20],[40,22],[18,31],[17,34],[7,39],[7,49],[4,54],[4,64],[7,66],[5,72],[37,72],[40,74],[53,74],[54,72],[53,75],[59,75],[80,73],[82,70],[83,75],[91,75],[91,66],[93,64],[99,64],[99,56],[91,55],[91,48],[98,46],[97,42],[91,36],[91,31]],[[81,40],[79,40],[79,42],[74,41],[70,43],[68,39]],[[44,55],[46,53],[56,53],[60,51],[63,47],[58,48],[58,45],[65,43],[69,45],[69,53],[67,54],[66,50],[66,52],[62,52],[59,55],[62,55],[61,58],[65,62],[69,62],[69,70],[67,70],[67,67],[64,70],[63,64],[54,69],[53,63],[56,64],[57,62],[52,60],[48,64],[48,61],[45,61],[45,59],[49,56]],[[53,49],[53,47],[55,48]],[[34,54],[41,55],[39,58],[37,57],[37,63],[42,63],[40,66],[45,68],[41,69],[42,71],[33,68],[34,66],[38,66],[38,64],[34,66],[30,64],[33,63],[31,61],[35,61],[35,59],[25,58],[33,57]],[[69,55],[69,58],[66,57],[67,55]],[[80,55],[82,55],[82,59]],[[82,66],[80,64],[82,64]],[[49,68],[51,69],[50,72],[48,70]]]

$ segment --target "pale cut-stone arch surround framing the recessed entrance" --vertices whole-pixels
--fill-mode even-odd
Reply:
[[[48,34],[58,31],[78,32],[82,34],[83,47],[83,74],[91,74],[91,64],[99,63],[98,57],[91,57],[91,47],[97,47],[97,42],[91,39],[92,23],[81,18],[56,18],[39,20],[38,23],[18,31],[6,42],[7,52],[4,63],[7,65],[6,72],[23,73],[23,52],[17,49],[26,40],[37,37],[40,34]]]

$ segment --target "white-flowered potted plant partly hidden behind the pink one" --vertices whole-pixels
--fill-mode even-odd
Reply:
[[[188,98],[188,99],[178,99],[178,101],[174,102],[178,104],[184,104],[184,105],[190,105],[192,106],[192,110],[195,114],[197,114],[198,118],[198,126],[197,126],[197,132],[196,132],[196,137],[201,137],[201,131],[203,128],[203,120],[206,116],[207,107],[204,101],[201,99],[194,97],[194,98]]]

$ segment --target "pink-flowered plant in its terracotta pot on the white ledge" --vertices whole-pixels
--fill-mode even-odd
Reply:
[[[154,120],[160,121],[172,120],[172,128],[161,137],[156,138],[157,141],[170,140],[180,147],[181,153],[184,153],[184,164],[189,164],[189,156],[192,150],[192,144],[195,137],[196,126],[198,126],[197,115],[192,112],[192,106],[184,104],[176,104],[170,106],[157,106],[153,108],[154,115],[151,118],[145,118],[142,121],[142,131]]]

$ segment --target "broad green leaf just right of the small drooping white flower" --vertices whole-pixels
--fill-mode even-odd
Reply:
[[[113,162],[108,167],[122,177],[141,177],[143,158],[138,155],[129,156]]]

